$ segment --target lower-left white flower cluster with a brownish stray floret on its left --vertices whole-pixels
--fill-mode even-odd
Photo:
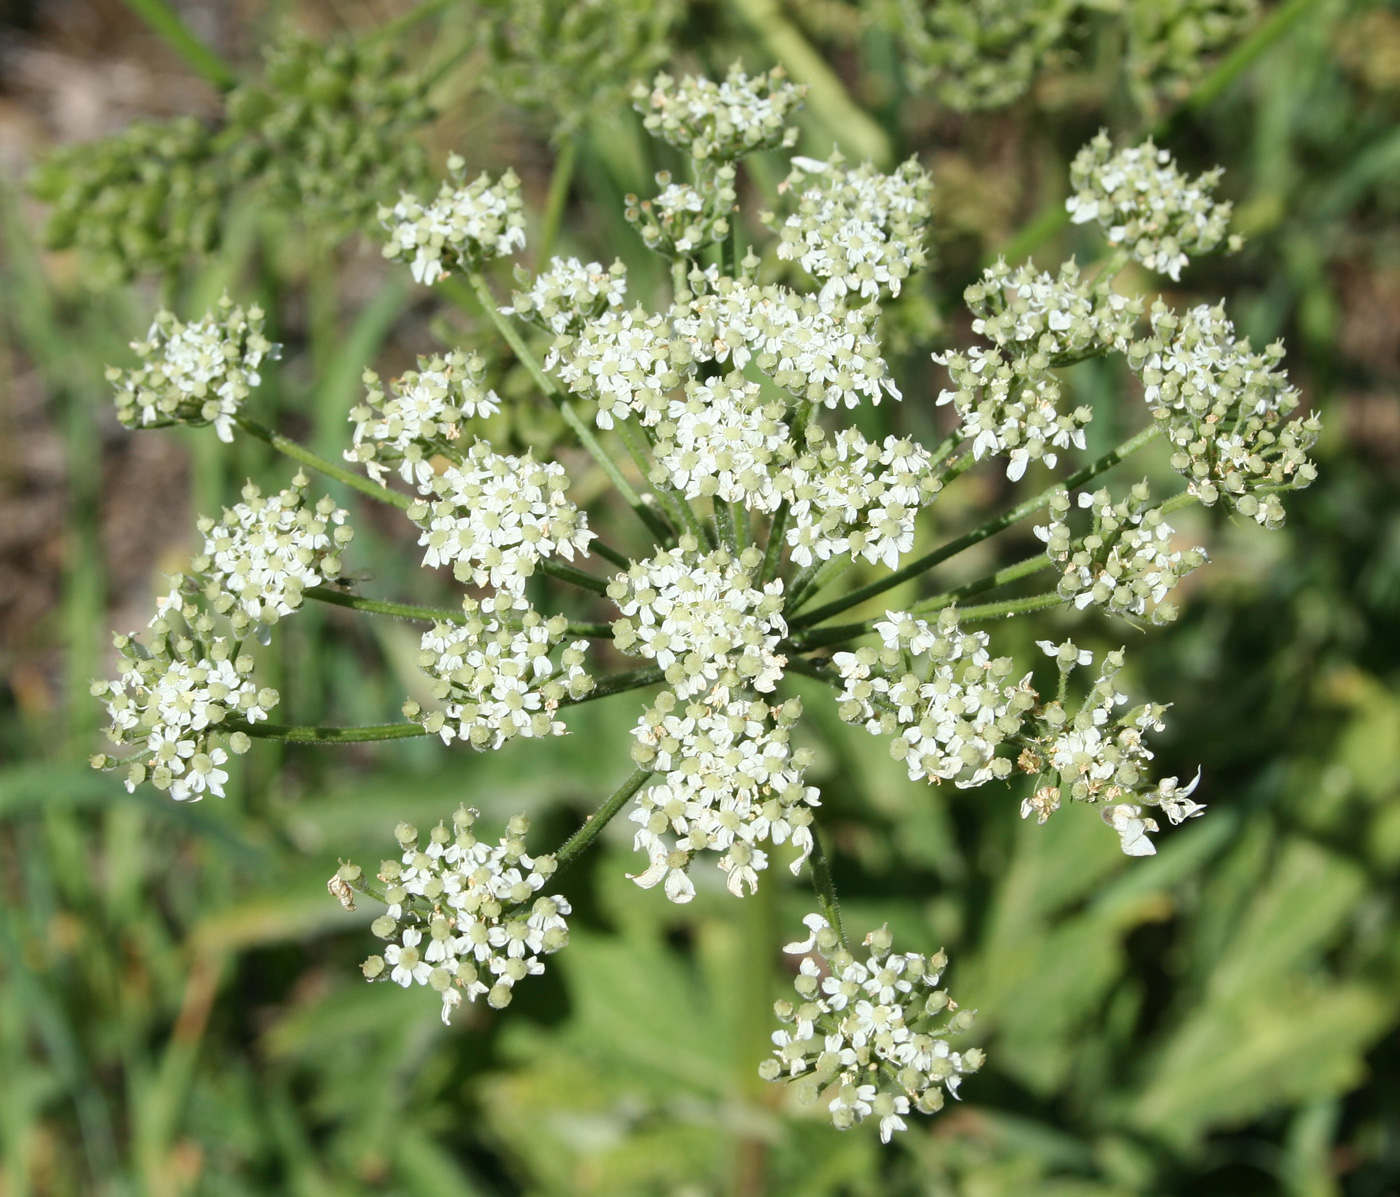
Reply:
[[[399,823],[403,854],[379,867],[388,911],[372,924],[375,935],[393,942],[363,966],[371,981],[434,988],[442,995],[442,1022],[463,995],[484,995],[496,1009],[510,1005],[517,981],[545,972],[540,956],[568,944],[568,902],[535,897],[557,865],[550,855],[525,854],[529,820],[517,815],[500,841],[489,844],[473,833],[476,819],[476,811],[458,809],[452,827],[438,823],[424,847],[416,827]],[[336,882],[358,881],[356,865],[342,867]]]

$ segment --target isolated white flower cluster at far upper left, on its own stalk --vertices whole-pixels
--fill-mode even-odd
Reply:
[[[218,440],[232,441],[234,420],[262,382],[259,367],[280,350],[262,329],[262,308],[245,309],[227,294],[217,311],[193,323],[161,309],[146,340],[132,342],[143,364],[106,368],[116,385],[116,419],[127,428],[213,424]]]

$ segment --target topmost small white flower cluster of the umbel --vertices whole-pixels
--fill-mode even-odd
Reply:
[[[788,120],[805,94],[780,67],[750,77],[735,63],[722,83],[694,76],[678,83],[662,73],[651,87],[638,84],[631,98],[652,136],[693,158],[732,162],[755,150],[794,146],[797,127]]]

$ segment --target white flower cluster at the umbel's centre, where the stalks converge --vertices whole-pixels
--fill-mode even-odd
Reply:
[[[647,561],[633,561],[608,585],[623,617],[613,623],[617,651],[652,659],[682,699],[715,686],[770,693],[787,657],[777,651],[787,636],[783,582],[762,589],[755,573],[763,554],[748,547],[699,554],[693,536]]]

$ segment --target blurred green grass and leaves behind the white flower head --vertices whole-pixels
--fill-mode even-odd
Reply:
[[[1180,32],[1226,10],[1218,42]],[[256,442],[116,427],[102,368],[153,308],[197,315],[225,286],[259,298],[287,344],[259,416],[330,454],[367,363],[392,374],[479,332],[469,305],[388,270],[353,210],[308,235],[287,202],[302,182],[277,169],[221,182],[214,232],[192,242],[214,252],[154,279],[41,248],[46,209],[18,181],[53,143],[136,118],[211,127],[220,111],[217,62],[182,57],[141,11],[158,25],[165,10],[0,4],[0,1194],[1400,1191],[1400,10],[1072,6],[1029,90],[973,112],[906,55],[907,31],[843,0],[441,3],[391,29],[431,78],[421,162],[456,148],[515,165],[531,252],[554,230],[605,262],[637,246],[643,295],[659,283],[622,197],[666,162],[619,102],[633,69],[781,60],[813,84],[805,153],[917,153],[939,185],[938,260],[892,314],[907,398],[879,413],[914,428],[939,414],[928,350],[969,337],[960,293],[981,260],[1095,252],[1057,213],[1100,125],[1155,126],[1191,169],[1226,167],[1247,245],[1170,298],[1224,295],[1256,343],[1287,340],[1326,420],[1320,480],[1280,533],[1221,522],[1172,629],[1075,624],[1100,648],[1131,637],[1134,687],[1175,704],[1163,771],[1200,763],[1208,816],[1126,860],[1093,818],[1026,825],[1009,795],[907,783],[878,741],[820,727],[848,920],[946,946],[990,1057],[962,1105],[889,1149],[872,1127],[785,1110],[755,1075],[785,984],[777,945],[809,907],[798,883],[672,907],[623,879],[619,834],[571,881],[574,942],[508,1016],[445,1029],[423,993],[358,979],[372,911],[329,900],[336,858],[377,860],[395,822],[459,801],[494,820],[524,806],[557,839],[626,769],[627,699],[582,708],[570,738],[486,756],[259,745],[231,797],[199,805],[85,767],[101,748],[87,679],[109,668],[111,631],[144,624],[195,512],[244,476],[288,475]],[[256,74],[287,27],[363,41],[409,6],[179,11]],[[959,11],[991,28],[1001,6],[927,6],[935,31]],[[776,178],[760,161],[749,188]],[[78,213],[85,230],[105,218]],[[493,368],[503,393],[528,386],[508,358]],[[1116,440],[1124,379],[1091,363],[1075,385],[1091,431]],[[973,476],[979,500],[998,501],[997,475]],[[402,529],[363,510],[357,526],[353,564],[406,589]],[[419,685],[405,626],[308,610],[280,634],[287,721],[393,718]]]

